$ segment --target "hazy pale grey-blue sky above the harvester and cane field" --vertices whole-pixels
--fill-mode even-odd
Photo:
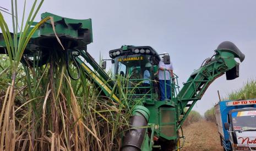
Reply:
[[[26,1],[28,15],[33,1]],[[23,11],[19,0],[19,14]],[[92,19],[94,42],[88,45],[89,53],[99,60],[100,54],[109,59],[108,51],[121,45],[150,45],[157,52],[171,56],[179,85],[198,69],[204,59],[211,57],[217,46],[226,40],[237,45],[246,55],[240,65],[240,77],[216,79],[194,110],[204,114],[247,80],[256,79],[256,1],[194,0],[99,0],[67,1],[45,0],[35,21],[44,12],[73,19]],[[0,7],[11,9],[10,1],[0,0]],[[4,13],[11,25],[11,16]],[[110,62],[109,62],[110,63]]]

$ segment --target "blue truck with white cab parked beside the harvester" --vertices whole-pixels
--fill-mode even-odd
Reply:
[[[256,99],[221,101],[215,118],[225,150],[256,150]]]

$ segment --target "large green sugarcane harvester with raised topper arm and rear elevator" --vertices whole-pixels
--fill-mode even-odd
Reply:
[[[106,62],[103,61],[99,66],[87,51],[86,46],[92,42],[91,19],[68,19],[51,13],[41,14],[41,19],[47,16],[53,17],[55,32],[50,21],[40,26],[25,48],[21,62],[32,66],[36,62],[37,65],[43,66],[51,55],[56,52],[64,53],[67,66],[73,62],[79,72],[86,73],[87,78],[92,80],[102,95],[110,97],[117,103],[122,103],[123,98],[116,90],[115,79],[128,80],[124,90],[129,90],[127,97],[132,100],[131,103],[136,102],[138,106],[133,109],[129,130],[122,138],[121,150],[179,150],[182,146],[179,139],[184,138],[179,130],[195,102],[200,100],[209,85],[222,74],[226,73],[227,80],[237,78],[239,63],[235,58],[241,62],[244,60],[244,54],[235,44],[222,42],[214,55],[205,60],[201,67],[190,75],[180,90],[178,77],[175,75],[171,83],[171,98],[160,101],[155,73],[158,70],[161,55],[157,54],[156,50],[149,46],[129,45],[110,50],[113,67],[111,78],[104,71]],[[31,23],[31,25],[35,24],[36,22]],[[64,50],[55,33],[61,40]],[[0,34],[0,53],[7,54],[2,33]],[[164,56],[164,63],[170,63],[169,56]],[[145,69],[150,72],[149,79],[143,79]],[[74,78],[72,75],[70,77],[79,78]],[[150,81],[149,86],[141,86],[145,80]]]

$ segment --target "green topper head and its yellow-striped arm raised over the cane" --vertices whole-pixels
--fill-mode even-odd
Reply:
[[[55,31],[53,31],[51,21],[42,24],[30,38],[21,61],[24,61],[25,65],[32,66],[34,62],[37,62],[38,66],[43,66],[49,61],[51,56],[58,56],[58,58],[66,57],[68,65],[72,62],[69,59],[73,59],[73,62],[79,64],[77,67],[86,73],[86,78],[96,85],[96,88],[102,92],[102,95],[119,102],[118,97],[112,92],[115,84],[87,51],[87,45],[92,42],[91,19],[69,19],[51,13],[41,14],[41,19],[47,16],[52,16]],[[36,22],[31,24],[34,25]],[[13,37],[12,33],[11,36]],[[64,50],[57,41],[56,36],[61,41]],[[0,33],[0,54],[7,54],[6,47],[3,34]],[[75,51],[80,56],[76,55]],[[35,57],[35,55],[37,56]],[[32,60],[30,60],[31,57],[33,57]],[[87,65],[80,59],[81,57],[84,58]],[[70,77],[73,78],[71,75]]]

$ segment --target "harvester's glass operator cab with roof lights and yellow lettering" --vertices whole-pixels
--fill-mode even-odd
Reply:
[[[112,59],[112,79],[122,77],[128,95],[141,102],[159,100],[157,71],[160,55],[149,46],[135,47],[123,45],[119,49],[110,50]],[[165,63],[170,63],[170,56],[165,55]]]

